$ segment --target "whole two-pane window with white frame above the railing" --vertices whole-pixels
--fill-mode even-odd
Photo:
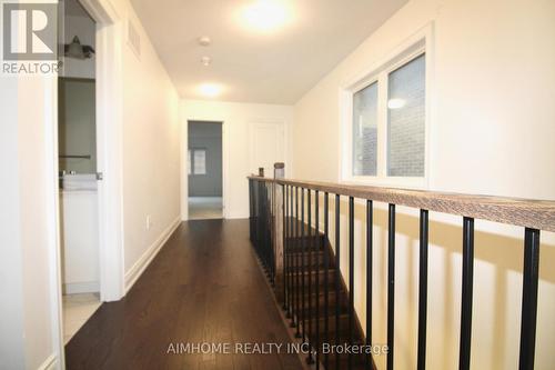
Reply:
[[[424,40],[344,90],[342,178],[423,186],[426,176]]]

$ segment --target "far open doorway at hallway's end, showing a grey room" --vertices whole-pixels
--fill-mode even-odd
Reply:
[[[222,122],[188,122],[189,219],[223,218]]]

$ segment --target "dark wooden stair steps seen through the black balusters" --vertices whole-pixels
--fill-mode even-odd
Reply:
[[[287,318],[297,338],[303,338],[313,349],[320,348],[317,354],[307,358],[307,362],[317,360],[316,368],[325,369],[375,369],[370,354],[324,351],[322,343],[360,347],[365,343],[364,334],[354,310],[350,329],[349,289],[336,268],[330,241],[300,220],[287,218],[285,222],[289,222],[290,230],[297,231],[297,237],[285,238],[284,243]],[[303,228],[304,232],[301,232]]]

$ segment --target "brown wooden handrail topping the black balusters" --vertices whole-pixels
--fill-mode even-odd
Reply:
[[[250,176],[249,179],[555,232],[555,201],[549,200],[271,179],[258,176]]]

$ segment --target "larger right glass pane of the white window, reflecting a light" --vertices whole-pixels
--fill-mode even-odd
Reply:
[[[389,76],[387,176],[423,177],[425,56]]]

